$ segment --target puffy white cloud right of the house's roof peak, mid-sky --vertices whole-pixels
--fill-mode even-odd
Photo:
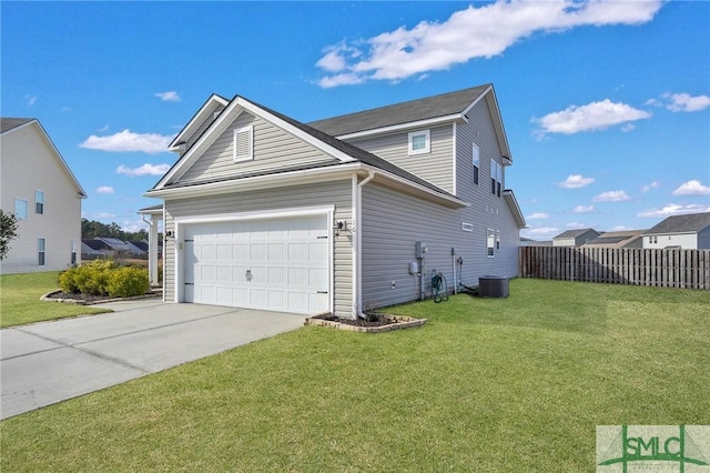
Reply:
[[[651,113],[643,110],[605,99],[580,107],[569,105],[562,111],[532,119],[532,122],[539,124],[540,128],[536,130],[536,134],[541,138],[546,133],[574,134],[581,131],[604,130],[615,124],[628,124],[628,122],[650,117]]]

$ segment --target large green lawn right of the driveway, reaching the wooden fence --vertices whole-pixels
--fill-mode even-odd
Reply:
[[[514,280],[306,326],[0,423],[14,471],[594,471],[596,426],[710,424],[710,292]]]

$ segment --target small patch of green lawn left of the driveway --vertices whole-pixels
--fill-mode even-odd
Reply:
[[[44,272],[0,275],[0,326],[111,312],[106,309],[40,301],[42,295],[59,289],[58,274]]]

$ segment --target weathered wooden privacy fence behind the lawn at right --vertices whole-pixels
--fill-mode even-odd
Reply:
[[[710,250],[520,246],[520,278],[710,289]]]

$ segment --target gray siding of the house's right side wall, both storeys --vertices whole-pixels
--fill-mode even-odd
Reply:
[[[424,268],[427,296],[435,269],[453,289],[456,266],[452,248],[464,259],[462,282],[466,285],[478,285],[478,278],[483,275],[517,275],[519,229],[505,199],[490,192],[490,159],[503,164],[503,157],[486,102],[477,103],[468,118],[468,123],[456,124],[456,191],[460,199],[470,202],[469,208],[448,210],[374,184],[363,189],[363,305],[366,308],[417,298],[417,276],[409,274],[408,264],[415,261],[414,245],[418,240],[426,242],[429,250]],[[473,183],[474,142],[480,149],[478,185]],[[450,161],[448,158],[449,169]],[[463,231],[463,222],[470,223],[473,231]],[[488,229],[500,232],[500,251],[494,258],[487,255]],[[392,281],[395,281],[394,290]]]

